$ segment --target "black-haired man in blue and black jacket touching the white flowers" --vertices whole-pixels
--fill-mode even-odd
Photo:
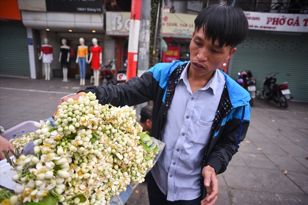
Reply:
[[[242,10],[208,6],[195,19],[190,61],[159,63],[126,84],[83,90],[101,104],[153,101],[152,136],[166,145],[148,175],[151,205],[216,202],[216,175],[226,170],[250,120],[249,93],[217,68],[247,34]]]

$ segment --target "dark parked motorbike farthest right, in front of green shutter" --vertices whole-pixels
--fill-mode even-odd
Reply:
[[[267,74],[263,83],[262,95],[267,100],[273,100],[282,108],[287,108],[289,106],[288,101],[293,98],[289,90],[288,82],[283,82],[276,84],[275,75],[278,73],[272,72]]]

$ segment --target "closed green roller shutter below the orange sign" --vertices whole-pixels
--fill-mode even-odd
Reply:
[[[0,75],[30,77],[28,39],[21,21],[0,21]]]

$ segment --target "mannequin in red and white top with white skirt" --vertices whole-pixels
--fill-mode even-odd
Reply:
[[[41,47],[39,60],[43,57],[43,64],[45,68],[45,81],[50,80],[50,64],[54,60],[52,57],[52,46],[48,44],[48,38],[44,38],[44,44]]]

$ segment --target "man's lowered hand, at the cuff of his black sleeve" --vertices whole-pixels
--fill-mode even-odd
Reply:
[[[216,178],[215,169],[208,165],[202,169],[202,175],[204,177],[204,185],[207,194],[206,197],[201,200],[201,205],[213,205],[218,197],[218,180]]]

